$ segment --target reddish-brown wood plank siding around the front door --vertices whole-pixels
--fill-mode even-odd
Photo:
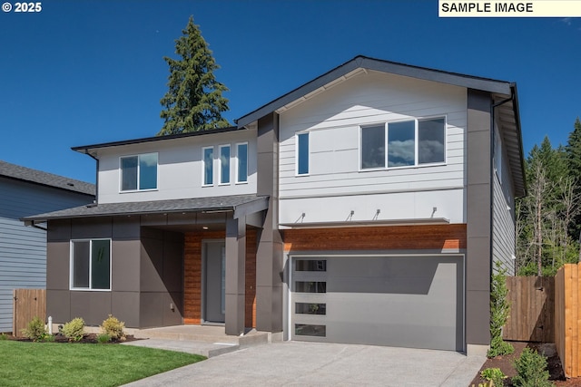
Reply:
[[[183,324],[202,324],[202,244],[224,231],[189,232],[184,241]],[[245,326],[256,326],[256,230],[246,230]]]

